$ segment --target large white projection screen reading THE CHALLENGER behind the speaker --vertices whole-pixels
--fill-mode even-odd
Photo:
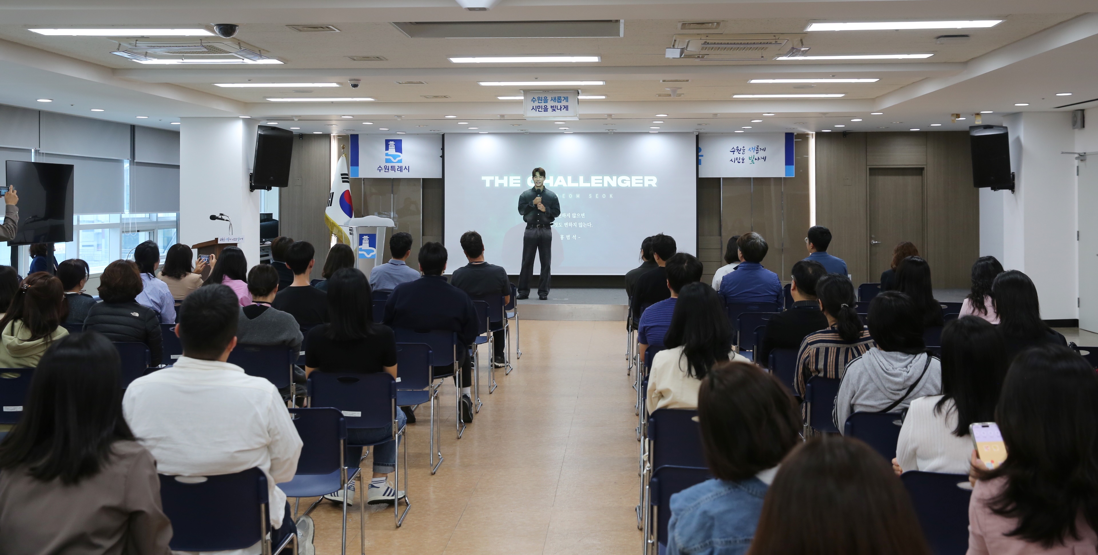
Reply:
[[[640,241],[658,233],[696,253],[693,134],[447,134],[444,141],[447,273],[466,263],[459,239],[468,230],[484,238],[489,262],[519,272],[518,195],[538,167],[560,199],[554,275],[625,274],[639,264]]]

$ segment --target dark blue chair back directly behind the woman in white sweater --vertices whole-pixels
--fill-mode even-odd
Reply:
[[[964,555],[968,550],[968,476],[934,472],[905,472],[907,488],[922,533],[935,555]]]

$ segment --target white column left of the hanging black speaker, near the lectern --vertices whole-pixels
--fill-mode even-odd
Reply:
[[[183,117],[179,126],[179,242],[228,235],[228,223],[248,265],[259,263],[259,191],[248,191],[257,123],[240,117]]]

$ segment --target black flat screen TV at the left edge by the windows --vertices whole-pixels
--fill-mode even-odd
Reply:
[[[72,165],[7,160],[4,170],[0,191],[19,195],[19,231],[8,245],[71,241]]]

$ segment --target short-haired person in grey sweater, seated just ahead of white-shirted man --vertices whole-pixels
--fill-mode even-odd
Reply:
[[[256,264],[248,272],[251,304],[240,307],[236,341],[243,344],[301,348],[301,327],[293,316],[271,306],[278,293],[278,270],[271,264]]]

